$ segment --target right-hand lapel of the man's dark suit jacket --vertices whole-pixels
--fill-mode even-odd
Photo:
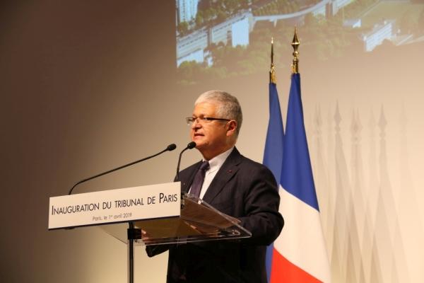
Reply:
[[[209,204],[213,199],[223,190],[225,184],[237,173],[239,167],[238,165],[241,162],[241,155],[236,148],[228,156],[227,160],[223,163],[223,166],[216,173],[215,178],[213,178],[211,185],[209,185],[208,190],[204,195],[203,200]]]

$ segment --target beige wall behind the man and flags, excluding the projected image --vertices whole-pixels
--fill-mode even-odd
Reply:
[[[88,175],[148,156],[172,142],[181,150],[189,141],[184,117],[191,113],[194,98],[211,88],[240,98],[245,122],[238,147],[261,161],[269,66],[258,66],[259,75],[183,88],[173,83],[173,1],[10,2],[0,6],[2,282],[126,282],[126,246],[98,229],[47,231],[48,197],[65,195]],[[300,28],[302,42],[307,41],[301,35]],[[302,99],[324,233],[332,260],[336,253],[344,256],[340,266],[333,265],[334,272],[346,273],[353,260],[362,262],[367,277],[385,279],[370,268],[372,255],[384,258],[383,249],[375,242],[366,245],[370,239],[385,243],[379,237],[390,235],[391,249],[384,248],[389,250],[385,258],[394,259],[391,267],[396,267],[399,282],[424,279],[422,47],[398,47],[375,57],[320,64],[302,61],[300,47]],[[278,66],[277,75],[285,112],[288,65]],[[343,159],[334,150],[339,146],[336,103],[346,161],[343,184],[334,181],[340,169],[335,168],[335,160]],[[372,124],[372,117],[378,123],[382,107],[387,120],[384,135],[381,127]],[[321,126],[317,126],[317,109]],[[355,134],[360,151],[353,147],[353,112],[362,125]],[[385,163],[379,161],[382,143],[387,145]],[[93,180],[76,192],[170,181],[177,151]],[[355,152],[360,165],[353,162]],[[187,152],[182,167],[198,158],[195,151]],[[380,178],[384,168],[389,179]],[[359,185],[355,175],[360,176]],[[341,191],[346,193],[338,194]],[[334,226],[335,215],[346,215],[346,222],[352,215],[337,207],[337,197],[354,207],[370,206],[370,214],[366,209],[354,212],[363,219],[357,219],[356,238],[351,225]],[[343,231],[350,236],[336,240]],[[346,242],[358,252],[334,251]],[[149,259],[143,248],[136,248],[136,279],[163,282],[166,258],[165,254]],[[385,264],[377,262],[377,266]],[[391,274],[391,270],[379,273]]]

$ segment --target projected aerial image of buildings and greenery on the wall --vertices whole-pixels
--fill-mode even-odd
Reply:
[[[257,44],[269,40],[263,35],[278,42],[294,26],[309,37],[309,54],[322,61],[352,48],[373,52],[384,40],[394,46],[424,40],[424,4],[413,1],[176,0],[176,8],[177,67],[183,76],[196,68],[197,74],[200,69],[218,76],[251,74],[255,68],[247,58],[261,60],[268,52]],[[227,62],[236,57],[230,69]]]

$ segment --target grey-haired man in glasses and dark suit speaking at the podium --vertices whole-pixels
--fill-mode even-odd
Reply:
[[[167,282],[266,283],[266,246],[283,229],[283,217],[271,171],[235,148],[242,125],[240,104],[229,93],[208,91],[196,100],[187,122],[203,161],[179,174],[182,191],[199,195],[220,212],[239,219],[252,237],[167,246]],[[202,164],[206,166],[199,185],[195,179]],[[153,256],[165,248],[146,250]]]

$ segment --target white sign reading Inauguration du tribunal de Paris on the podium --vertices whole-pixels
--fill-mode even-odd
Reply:
[[[49,230],[179,216],[180,183],[63,195],[49,199]]]

